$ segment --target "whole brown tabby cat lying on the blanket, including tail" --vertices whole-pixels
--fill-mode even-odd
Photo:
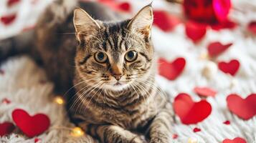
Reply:
[[[100,4],[58,0],[34,31],[0,42],[0,60],[30,53],[56,92],[74,85],[67,102],[70,117],[101,142],[167,143],[172,108],[154,78],[152,23],[151,4],[123,20]]]

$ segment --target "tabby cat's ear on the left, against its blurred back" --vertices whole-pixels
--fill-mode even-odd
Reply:
[[[80,41],[80,34],[92,35],[93,32],[100,29],[100,25],[86,11],[77,8],[74,11],[73,23],[77,39]]]

